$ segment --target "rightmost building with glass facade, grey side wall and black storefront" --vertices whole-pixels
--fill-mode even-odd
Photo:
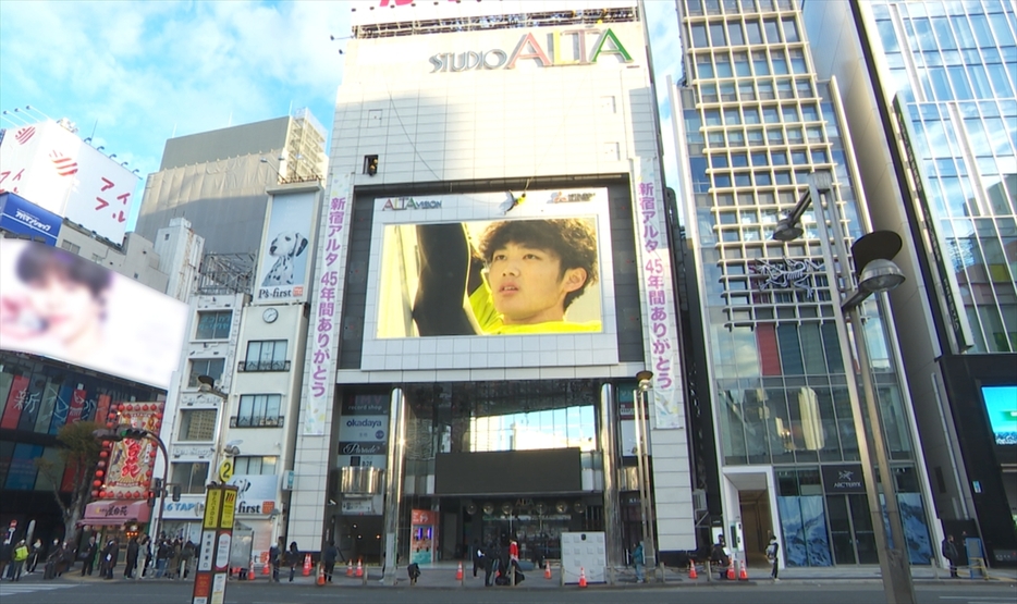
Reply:
[[[944,532],[1017,564],[1017,16],[1010,0],[809,1],[877,227]]]

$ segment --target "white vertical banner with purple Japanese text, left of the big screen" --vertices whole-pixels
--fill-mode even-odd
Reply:
[[[317,284],[308,337],[310,374],[304,393],[304,434],[313,436],[324,435],[335,391],[339,305],[346,251],[343,245],[348,233],[350,214],[353,212],[348,174],[332,177],[321,212],[323,220],[319,222],[318,264],[315,269]]]

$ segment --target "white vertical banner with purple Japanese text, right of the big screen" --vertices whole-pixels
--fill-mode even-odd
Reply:
[[[653,416],[658,430],[684,427],[677,323],[667,249],[667,213],[655,159],[636,160],[636,242],[644,285],[648,369],[653,372]]]

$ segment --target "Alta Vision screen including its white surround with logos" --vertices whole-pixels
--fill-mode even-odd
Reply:
[[[373,205],[364,368],[591,365],[591,354],[616,360],[608,189],[385,197]],[[434,341],[452,344],[426,344]],[[427,358],[415,354],[431,349]],[[502,355],[524,349],[541,354]],[[442,359],[454,352],[457,360]],[[477,354],[467,362],[465,352]]]

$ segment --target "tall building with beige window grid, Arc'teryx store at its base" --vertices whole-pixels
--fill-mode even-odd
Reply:
[[[792,0],[678,2],[685,81],[673,90],[681,196],[701,267],[702,330],[721,461],[714,526],[749,563],[768,533],[793,566],[877,563],[848,380],[816,212],[772,239],[813,172],[849,239],[868,229],[836,83],[820,81]],[[850,243],[849,241],[847,242]],[[912,564],[933,557],[928,480],[893,324],[861,311]],[[845,362],[847,361],[847,362]]]

